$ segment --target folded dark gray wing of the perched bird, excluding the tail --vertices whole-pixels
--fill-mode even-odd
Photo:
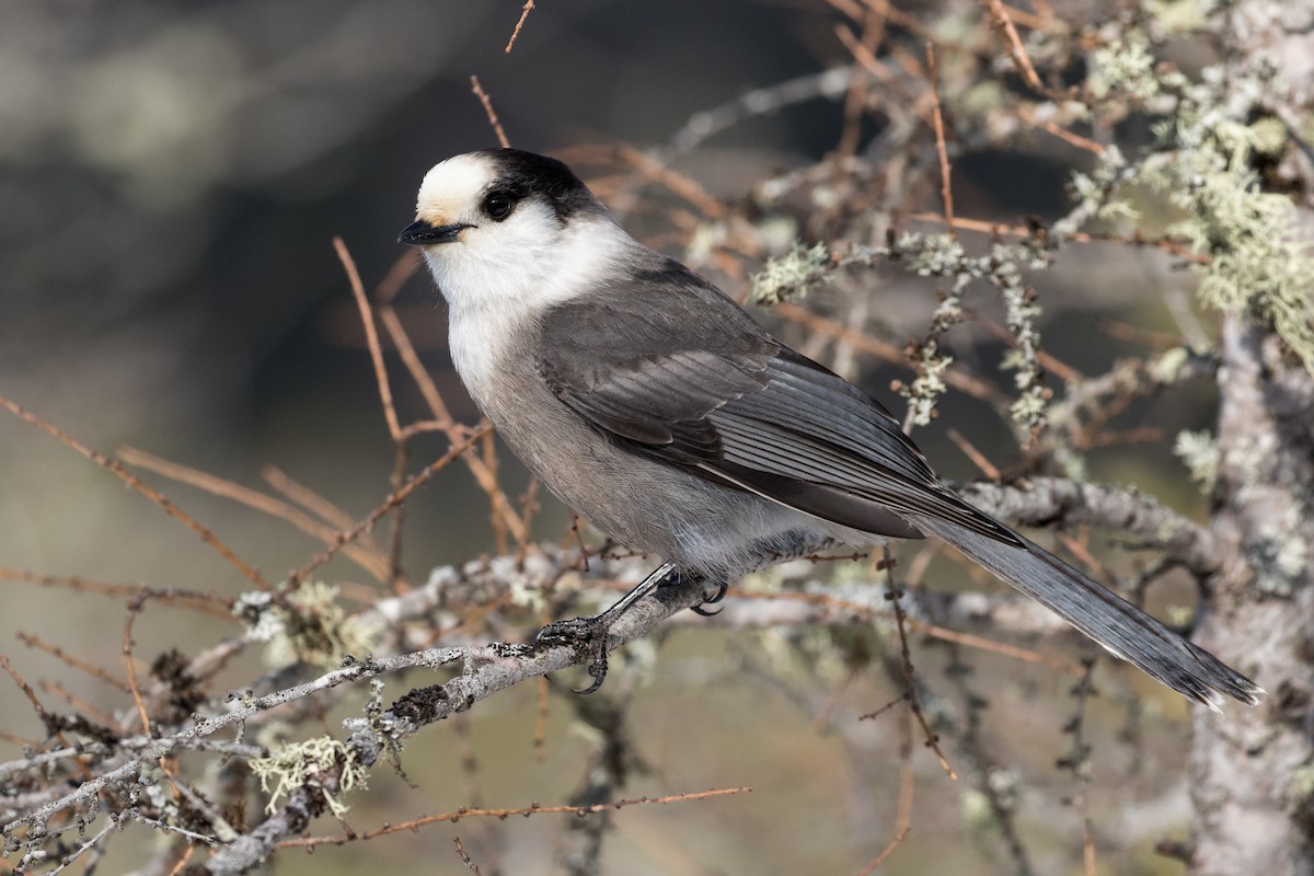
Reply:
[[[940,487],[875,401],[675,263],[623,292],[549,311],[539,361],[557,398],[623,447],[854,529],[920,537],[908,517],[938,516],[1016,542]]]

